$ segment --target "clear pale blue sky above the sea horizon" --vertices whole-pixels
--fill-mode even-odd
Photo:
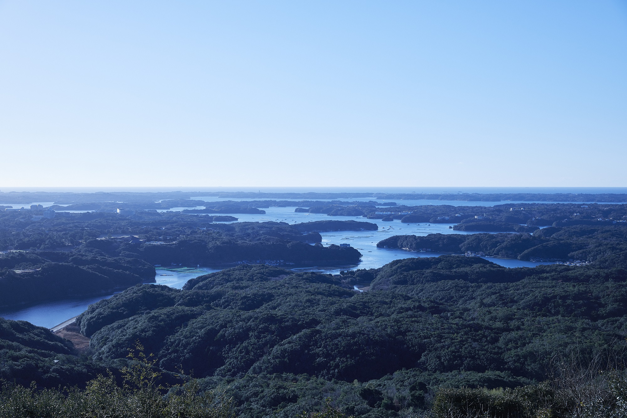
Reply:
[[[0,1],[3,186],[627,186],[625,1]]]

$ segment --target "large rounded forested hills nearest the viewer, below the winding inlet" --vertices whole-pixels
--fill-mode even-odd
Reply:
[[[78,322],[98,362],[115,365],[140,340],[163,370],[193,370],[206,389],[228,383],[240,416],[290,417],[329,395],[347,414],[396,416],[443,385],[541,382],[554,356],[620,340],[626,278],[462,256],[342,276],[242,265],[182,290],[132,287]]]

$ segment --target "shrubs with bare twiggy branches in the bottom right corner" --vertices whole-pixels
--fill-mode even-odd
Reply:
[[[549,380],[539,385],[505,390],[440,389],[431,416],[624,418],[627,417],[624,353],[624,345],[608,346],[590,358],[574,352],[568,358],[554,360]]]

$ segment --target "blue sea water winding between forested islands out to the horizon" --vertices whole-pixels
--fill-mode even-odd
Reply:
[[[129,190],[132,189],[132,190]],[[159,189],[159,190],[155,190]],[[190,189],[190,188],[188,188]],[[282,192],[282,193],[305,193],[307,191],[321,191],[321,192],[359,192],[360,189],[366,191],[366,188],[204,188],[206,191],[272,191],[272,192]],[[172,188],[80,188],[80,191],[171,191],[174,190]],[[176,190],[183,190],[182,188],[177,188]],[[201,188],[191,188],[194,191],[200,191]],[[191,191],[190,190],[190,191]],[[3,191],[9,191],[6,188],[3,188]],[[33,190],[34,191],[34,190]],[[41,188],[36,189],[36,191],[42,191]],[[63,189],[63,190],[45,190],[45,191],[78,191],[76,188]],[[416,193],[442,193],[442,192],[464,192],[464,193],[627,193],[627,188],[367,188],[369,192],[384,192],[384,193],[411,193],[412,191],[416,191]],[[206,196],[206,197],[198,197],[195,198],[198,200],[205,201],[224,201],[224,200],[251,200],[251,198],[245,199],[221,199],[216,198],[214,196]],[[273,199],[277,200],[277,199]],[[282,199],[283,200],[283,199]],[[302,199],[296,199],[295,201],[300,201]],[[318,199],[317,199],[318,200]],[[342,200],[351,200],[351,199],[342,199]],[[354,201],[367,201],[367,200],[377,200],[381,203],[384,203],[389,200],[382,200],[380,198],[359,198],[352,199]],[[510,203],[512,205],[516,203],[530,203],[530,202],[514,202],[514,201],[502,201],[502,202],[484,202],[484,201],[442,201],[442,200],[393,200],[396,201],[399,205],[453,205],[460,206],[460,212],[463,210],[463,206],[493,206],[503,203]],[[41,203],[50,205],[51,202],[33,202],[33,203]],[[543,202],[546,203],[546,202]],[[567,202],[566,202],[567,203]],[[14,207],[28,207],[28,205],[19,204],[13,205]],[[181,208],[182,209],[182,208]],[[428,233],[474,233],[474,232],[461,232],[461,231],[453,231],[450,226],[453,224],[429,224],[429,223],[418,223],[418,224],[406,224],[401,223],[399,220],[395,220],[393,222],[383,222],[381,220],[366,220],[362,217],[329,217],[324,214],[319,213],[300,213],[293,212],[294,207],[288,208],[278,208],[278,207],[270,207],[265,208],[265,215],[251,215],[251,214],[235,214],[234,217],[238,218],[238,222],[267,222],[267,221],[275,221],[275,222],[287,222],[287,223],[299,223],[299,222],[309,222],[314,220],[358,220],[358,221],[367,221],[374,222],[379,225],[379,230],[377,231],[335,231],[335,232],[325,232],[322,233],[322,244],[344,244],[348,243],[352,247],[355,247],[362,253],[361,262],[353,265],[332,265],[332,266],[307,266],[307,267],[295,267],[294,270],[297,271],[320,271],[327,272],[332,274],[337,274],[339,271],[347,270],[347,269],[370,269],[381,267],[388,262],[397,259],[404,259],[409,257],[434,257],[440,254],[433,252],[409,252],[401,249],[377,249],[377,242],[381,241],[384,238],[391,237],[392,235],[427,235]],[[82,212],[82,211],[81,211]],[[190,215],[192,216],[192,215]],[[495,262],[497,264],[503,265],[505,267],[533,267],[538,264],[551,264],[547,262],[537,263],[537,262],[527,262],[522,260],[510,260],[510,259],[497,259],[487,257],[486,259]],[[209,267],[200,267],[194,269],[194,271],[169,271],[169,270],[157,270],[157,276],[155,280],[157,284],[165,284],[166,286],[181,288],[187,280],[192,277],[198,277],[202,274],[207,274],[209,272],[218,271],[219,269],[211,269]],[[46,326],[51,328],[56,324],[59,324],[65,321],[68,318],[72,318],[76,316],[87,307],[95,303],[101,299],[111,297],[112,295],[105,296],[95,296],[95,297],[85,297],[81,299],[67,299],[65,301],[56,301],[50,303],[41,303],[36,304],[35,306],[23,307],[19,309],[8,309],[4,311],[0,311],[0,316],[3,316],[7,319],[21,319],[25,321],[29,321],[33,324],[39,326]]]

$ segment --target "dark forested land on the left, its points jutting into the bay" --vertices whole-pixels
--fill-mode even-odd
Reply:
[[[314,222],[315,223],[315,222]],[[307,224],[305,224],[307,225]],[[322,246],[314,230],[374,228],[330,221],[213,223],[211,217],[144,212],[77,213],[41,221],[0,213],[0,306],[110,293],[154,282],[154,265],[271,262],[306,265],[359,261],[353,248]],[[315,243],[309,245],[308,243]]]

